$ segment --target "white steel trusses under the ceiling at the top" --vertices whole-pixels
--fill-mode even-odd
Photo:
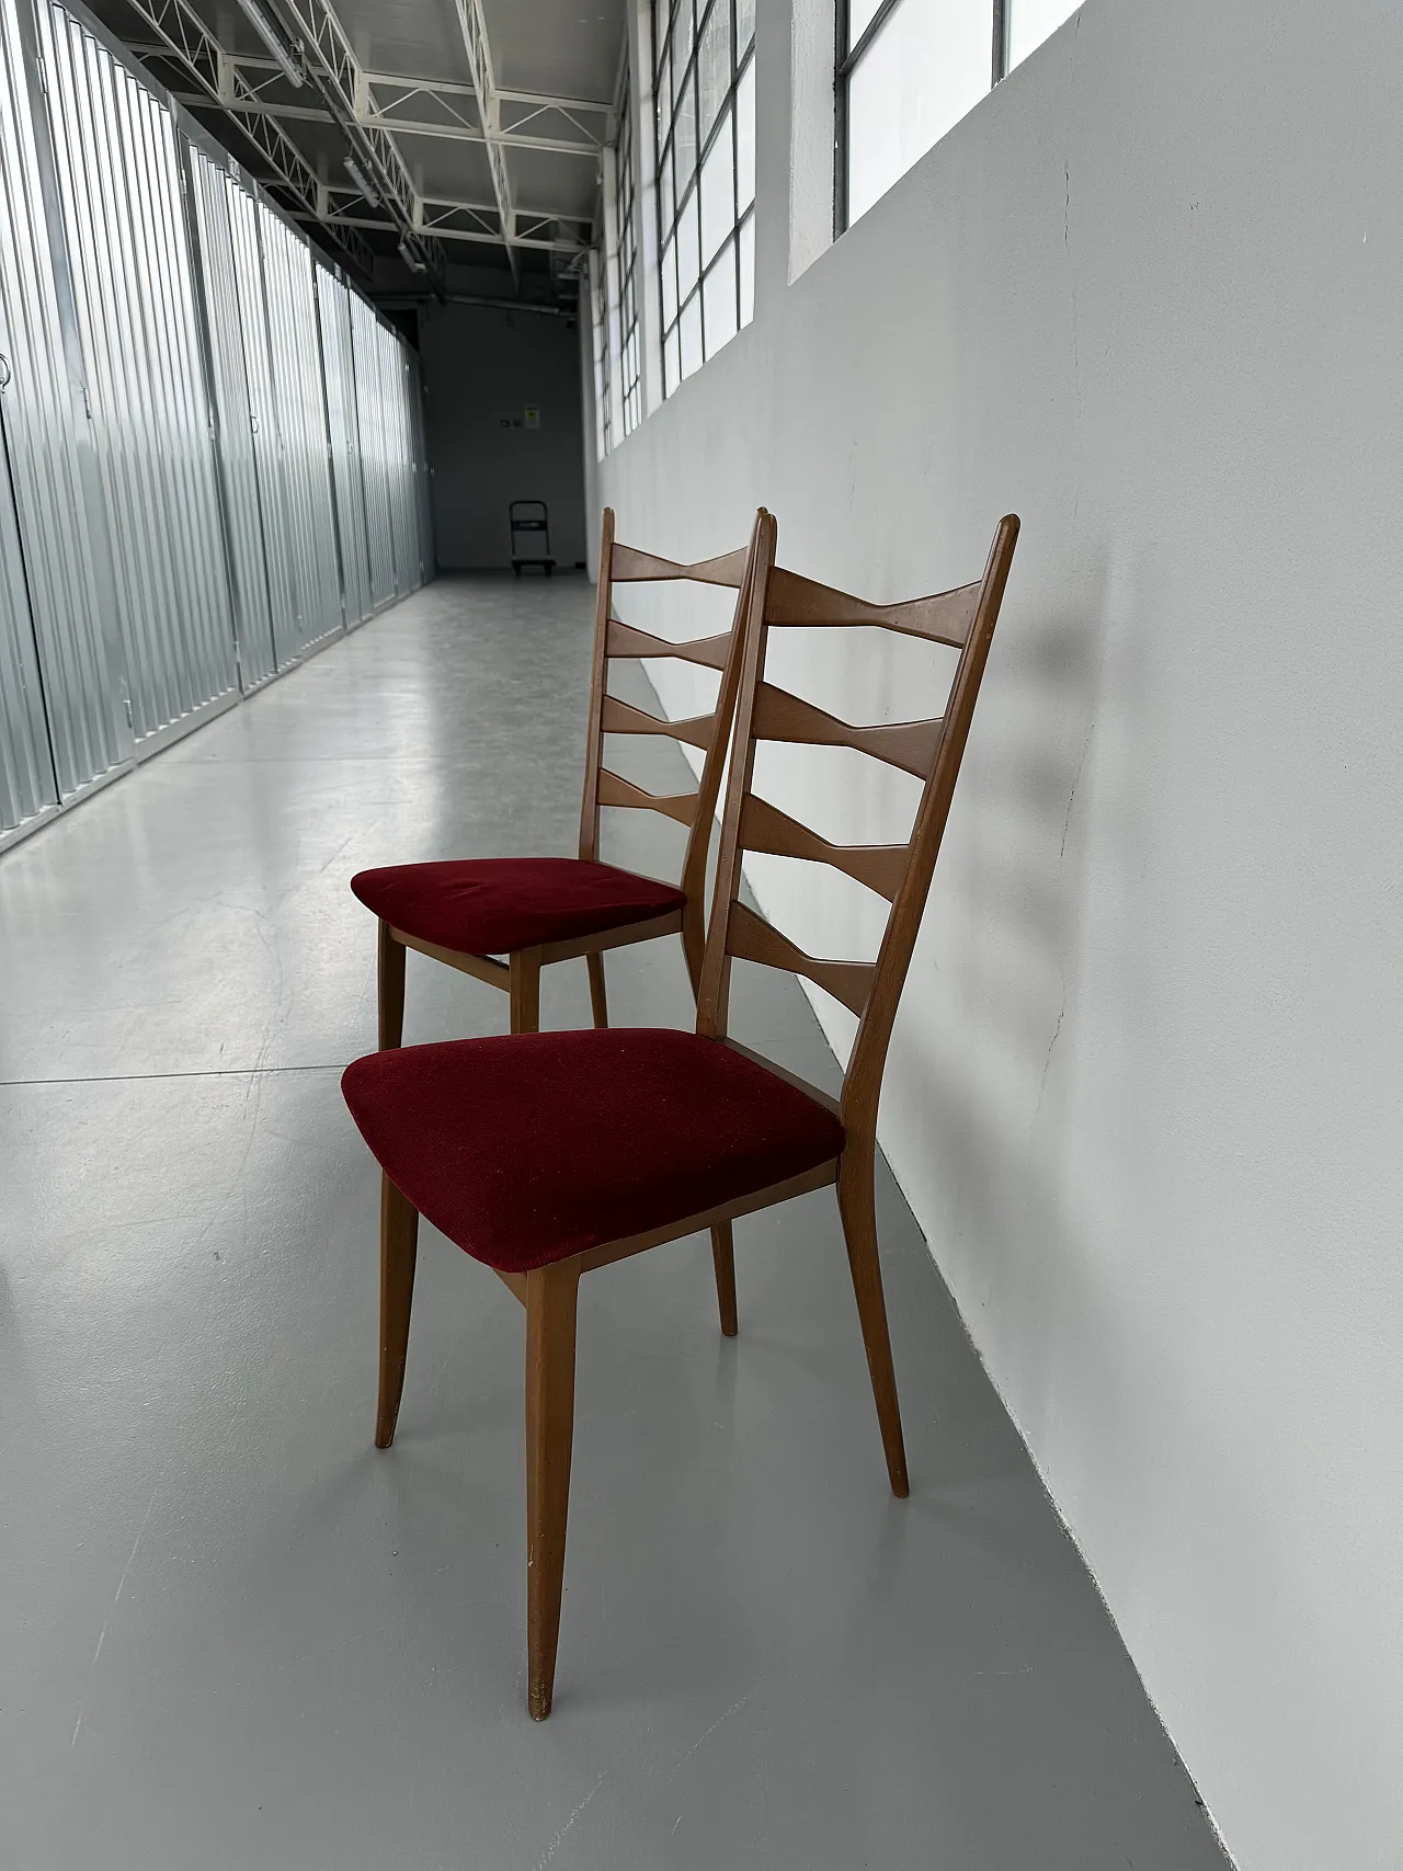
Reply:
[[[591,238],[591,215],[514,200],[511,150],[574,157],[600,165],[615,135],[614,101],[503,90],[496,84],[483,0],[455,0],[470,84],[367,71],[352,51],[331,0],[262,0],[288,36],[305,84],[288,84],[281,60],[223,45],[195,11],[193,0],[127,0],[153,45],[131,43],[138,58],[176,64],[195,80],[178,101],[198,110],[219,107],[275,172],[297,219],[318,223],[363,271],[370,271],[367,232],[393,232],[400,253],[434,284],[443,283],[445,241],[477,241],[507,251],[513,277],[518,251],[576,256]],[[372,195],[342,174],[314,163],[286,125],[335,123]],[[477,144],[486,155],[492,200],[421,193],[398,138],[427,137]],[[576,204],[578,206],[578,204]]]

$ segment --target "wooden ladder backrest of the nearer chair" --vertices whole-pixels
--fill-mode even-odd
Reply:
[[[844,591],[799,578],[774,565],[774,520],[761,511],[759,539],[750,580],[735,713],[735,748],[726,790],[726,821],[716,866],[716,896],[698,992],[702,1035],[726,1037],[731,958],[789,969],[817,982],[859,1016],[847,1061],[842,1117],[851,1141],[875,1134],[877,1096],[887,1063],[887,1044],[896,1005],[905,984],[920,915],[926,907],[941,834],[960,760],[969,739],[969,720],[999,619],[1008,567],[1018,541],[1018,520],[999,520],[984,576],[954,591],[911,599],[905,604],[868,604]],[[855,728],[803,702],[788,689],[765,681],[765,649],[774,629],[872,627],[922,636],[960,651],[945,713],[937,720]],[[752,790],[758,741],[803,741],[816,747],[851,747],[922,778],[924,791],[907,844],[834,846],[808,825],[758,799]],[[823,962],[795,947],[771,922],[743,902],[741,861],[746,851],[806,857],[832,864],[877,891],[890,904],[875,962]]]

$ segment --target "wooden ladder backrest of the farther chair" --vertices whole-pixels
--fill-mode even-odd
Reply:
[[[746,597],[750,587],[750,567],[759,539],[759,515],[750,529],[750,544],[718,559],[702,559],[696,565],[677,565],[672,559],[655,558],[651,552],[638,552],[623,546],[614,537],[614,509],[604,509],[604,526],[599,541],[599,595],[595,601],[595,666],[589,687],[589,741],[586,747],[586,788],[580,810],[580,857],[599,857],[599,810],[600,806],[640,806],[649,812],[662,812],[666,818],[687,825],[687,853],[679,885],[687,891],[687,909],[683,911],[683,950],[687,969],[696,992],[702,977],[703,919],[705,919],[705,877],[707,846],[711,825],[716,816],[720,795],[720,776],[726,767],[726,748],[731,737],[731,718],[735,715],[735,694],[741,679],[741,651]],[[670,644],[666,638],[649,636],[636,631],[614,616],[614,587],[619,584],[657,584],[662,580],[690,580],[707,586],[730,586],[735,589],[735,614],[731,629],[720,636],[705,636],[687,644]],[[608,692],[608,666],[617,659],[677,657],[705,670],[720,670],[720,690],[711,715],[696,715],[690,720],[662,720],[645,709],[621,702]],[[610,773],[604,765],[604,735],[608,733],[662,733],[688,747],[705,752],[702,778],[690,793],[649,793],[632,780]]]

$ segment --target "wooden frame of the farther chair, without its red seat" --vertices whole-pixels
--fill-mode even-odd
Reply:
[[[586,958],[589,969],[589,1007],[597,1027],[608,1025],[608,994],[604,986],[604,952],[623,949],[638,941],[653,941],[657,936],[681,936],[687,973],[692,980],[692,994],[698,990],[703,950],[703,896],[707,877],[707,849],[711,827],[716,816],[716,799],[726,765],[726,748],[731,733],[735,711],[735,690],[741,674],[741,625],[746,610],[750,565],[756,552],[758,526],[752,528],[750,544],[728,552],[716,559],[702,559],[696,565],[681,565],[673,559],[657,558],[651,552],[638,552],[634,546],[619,544],[614,537],[614,509],[604,509],[604,522],[599,541],[599,586],[595,597],[595,653],[589,679],[589,730],[586,739],[586,784],[580,810],[580,857],[599,859],[599,818],[602,806],[634,806],[649,812],[662,812],[666,818],[687,825],[687,851],[679,889],[687,892],[681,909],[649,917],[645,922],[623,922],[615,928],[597,930],[591,936],[576,936],[565,941],[541,943],[533,949],[516,949],[505,962],[490,954],[468,954],[456,949],[441,949],[438,943],[423,941],[391,922],[380,921],[378,952],[378,1001],[380,1001],[380,1050],[398,1046],[404,1037],[404,950],[415,949],[419,954],[456,967],[475,980],[485,980],[501,988],[511,1001],[511,1031],[535,1033],[541,1025],[541,969],[550,962],[569,962]],[[690,580],[694,584],[735,587],[735,616],[731,629],[720,636],[698,638],[694,642],[672,644],[660,636],[636,631],[614,616],[614,587],[619,584],[657,584]],[[675,657],[702,668],[720,672],[720,690],[711,715],[698,715],[692,720],[664,720],[634,707],[608,692],[608,666],[614,660],[642,660],[657,657]],[[705,750],[702,778],[696,791],[658,795],[644,791],[630,780],[610,773],[604,765],[604,737],[610,733],[666,735],[673,741]]]

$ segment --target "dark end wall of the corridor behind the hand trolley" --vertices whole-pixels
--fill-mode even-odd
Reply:
[[[561,567],[586,558],[574,318],[430,305],[419,318],[440,571],[511,567],[507,507],[542,500]]]

